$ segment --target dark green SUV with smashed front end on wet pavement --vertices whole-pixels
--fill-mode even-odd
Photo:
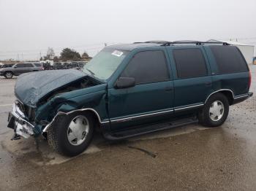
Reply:
[[[237,47],[210,42],[136,42],[105,47],[83,71],[22,74],[8,117],[15,136],[43,135],[74,156],[94,130],[119,140],[199,122],[222,125],[246,100],[251,76]]]

